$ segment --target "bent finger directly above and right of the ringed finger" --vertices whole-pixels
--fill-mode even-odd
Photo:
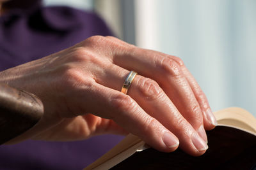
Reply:
[[[179,112],[207,142],[200,105],[179,64],[159,52],[136,47],[131,50],[125,54],[114,54],[113,62],[157,81]]]

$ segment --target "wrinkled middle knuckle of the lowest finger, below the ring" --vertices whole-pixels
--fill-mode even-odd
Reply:
[[[125,94],[118,94],[117,96],[111,99],[111,106],[114,109],[123,111],[123,110],[134,110],[136,107],[136,103],[132,100],[132,98]]]

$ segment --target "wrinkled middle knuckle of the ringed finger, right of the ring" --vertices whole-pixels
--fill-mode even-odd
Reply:
[[[141,77],[138,80],[138,90],[148,101],[153,101],[163,96],[163,90],[159,87],[158,83],[150,78]]]

